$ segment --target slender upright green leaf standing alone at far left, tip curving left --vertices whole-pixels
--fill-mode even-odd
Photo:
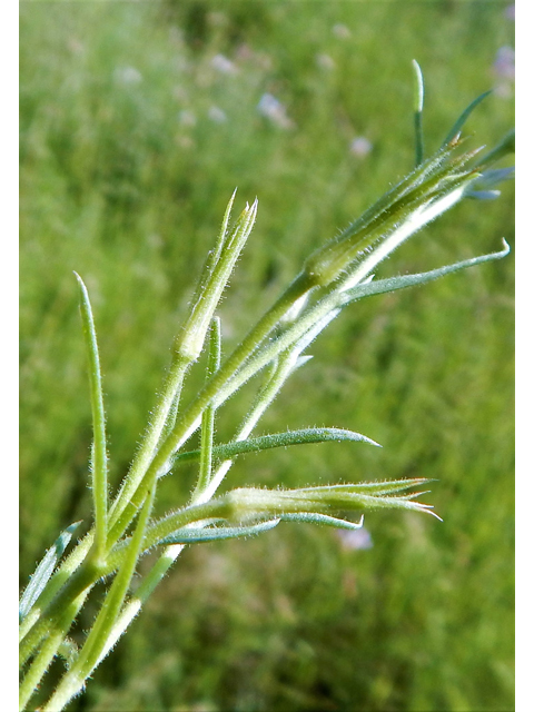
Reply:
[[[75,271],[80,287],[80,314],[89,363],[89,386],[92,411],[92,501],[95,507],[95,546],[97,557],[106,557],[108,530],[108,464],[106,453],[106,414],[103,411],[102,383],[98,357],[97,333],[92,318],[89,294],[81,277]]]

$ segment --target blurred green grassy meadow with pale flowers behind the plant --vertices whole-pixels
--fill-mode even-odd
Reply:
[[[226,352],[312,249],[411,168],[412,58],[429,149],[487,88],[467,130],[484,144],[510,128],[513,85],[494,70],[513,43],[507,4],[21,3],[21,584],[90,507],[72,269],[99,332],[115,486],[234,187],[238,206],[259,197],[259,215],[220,307]],[[265,93],[281,125],[258,112]],[[350,151],[357,137],[368,155]],[[380,275],[492,251],[512,230],[505,186]],[[190,548],[69,709],[513,709],[513,258],[362,303],[309,353],[258,434],[332,425],[384,448],[251,456],[231,482],[431,476],[444,523],[372,514],[365,551],[289,524]],[[162,511],[191,477],[165,481]]]

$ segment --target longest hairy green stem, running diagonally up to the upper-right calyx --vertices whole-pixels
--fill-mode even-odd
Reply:
[[[451,148],[444,149],[443,160],[448,156],[451,150]],[[288,289],[267,314],[264,315],[256,327],[251,329],[240,346],[236,348],[226,364],[215,374],[189,408],[186,409],[181,418],[176,423],[172,433],[161,444],[151,464],[141,477],[139,485],[142,483],[142,487],[139,488],[138,485],[135,494],[130,497],[120,495],[119,500],[116,501],[113,528],[108,540],[110,545],[118,541],[131,522],[137,510],[141,506],[142,494],[140,494],[140,492],[146,491],[146,488],[149,490],[151,483],[168,471],[171,456],[198,427],[201,414],[206,407],[217,394],[227,386],[228,382],[237,372],[241,369],[245,362],[267,338],[291,305],[315,286],[322,284],[332,286],[330,277],[333,279],[338,275],[339,270],[345,269],[347,260],[354,260],[358,255],[363,256],[368,246],[382,240],[382,244],[375,248],[375,251],[369,256],[372,259],[369,259],[369,257],[363,258],[359,269],[357,270],[357,277],[363,278],[377,261],[384,259],[384,257],[404,239],[459,200],[463,195],[463,187],[472,178],[469,174],[464,175],[455,171],[459,170],[472,157],[472,154],[461,156],[452,160],[451,165],[445,168],[439,167],[442,161],[441,154],[433,157],[427,165],[421,166],[412,174],[408,180],[409,188],[408,186],[406,186],[406,188],[399,186],[392,191],[392,196],[388,201],[386,201],[386,207],[379,218],[373,219],[369,216],[369,224],[366,225],[365,228],[356,229],[356,234],[354,234],[355,226],[350,226],[340,238],[333,240],[306,261],[303,273],[296,277]],[[429,176],[428,171],[431,171]],[[419,184],[418,181],[423,176],[428,176],[428,179],[426,182]],[[447,185],[444,185],[444,181]],[[394,200],[393,196],[395,196],[395,198],[400,196],[400,198]],[[437,196],[439,197],[434,201],[436,204],[434,205],[432,200],[437,198]],[[413,218],[411,217],[412,214],[414,214]],[[364,222],[367,222],[367,219],[368,218],[366,218]],[[405,221],[400,227],[398,227],[399,219]],[[359,221],[355,225],[359,226]],[[388,229],[392,230],[390,234],[387,233]],[[365,238],[360,239],[362,230],[365,231]],[[386,237],[384,237],[384,230],[386,231]],[[364,265],[365,274],[362,273]],[[355,279],[355,274],[356,273],[353,274],[353,279]],[[134,488],[135,485],[131,484],[129,493],[134,492]]]

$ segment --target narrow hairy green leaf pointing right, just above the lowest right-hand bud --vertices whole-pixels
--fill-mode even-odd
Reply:
[[[301,431],[288,431],[287,433],[273,433],[271,435],[261,435],[260,437],[251,437],[246,441],[235,443],[226,443],[225,445],[216,445],[212,449],[214,459],[231,459],[236,455],[245,453],[259,453],[263,449],[273,447],[288,447],[289,445],[304,445],[308,443],[326,443],[328,441],[353,441],[364,442],[380,447],[378,443],[372,441],[360,433],[345,431],[337,427],[313,427]],[[182,464],[198,459],[200,451],[195,449],[187,453],[179,453],[175,458],[175,464]]]

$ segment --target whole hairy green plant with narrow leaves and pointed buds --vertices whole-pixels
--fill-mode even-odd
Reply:
[[[495,186],[513,175],[512,168],[495,168],[500,159],[513,151],[513,131],[486,152],[483,148],[465,149],[464,123],[488,92],[467,107],[438,149],[425,158],[423,77],[415,61],[414,76],[413,170],[334,239],[309,255],[285,291],[224,358],[217,306],[258,210],[256,199],[246,204],[233,221],[234,192],[187,318],[175,338],[157,404],[131,466],[112,498],[108,492],[106,415],[96,328],[88,291],[82,278],[76,275],[92,407],[92,525],[66,557],[63,553],[80,522],[59,535],[20,600],[20,710],[33,709],[33,694],[57,656],[65,660],[65,673],[42,710],[62,710],[80,694],[186,545],[247,537],[288,521],[357,530],[362,527],[363,513],[377,507],[413,510],[439,518],[432,505],[418,500],[424,494],[419,488],[428,482],[425,477],[296,490],[281,486],[222,490],[236,458],[248,453],[326,441],[377,446],[365,435],[337,427],[263,436],[254,436],[253,432],[287,378],[310,358],[306,352],[312,342],[345,308],[360,299],[501,259],[510,251],[503,239],[502,248],[487,255],[426,273],[375,278],[379,263],[408,237],[466,198],[496,198],[500,194]],[[207,352],[205,384],[189,403],[182,404],[185,379],[202,352]],[[226,402],[255,376],[260,377],[260,385],[235,436],[227,443],[217,442],[216,419],[224,417]],[[198,447],[190,448],[189,439],[197,431]],[[198,464],[198,475],[188,501],[155,518],[160,479],[179,476],[180,467],[190,462]],[[147,552],[157,556],[141,575],[138,563]],[[135,574],[138,585],[132,591]],[[85,642],[78,646],[69,637],[69,631],[101,580],[110,585],[101,600],[93,602],[98,604],[97,615]]]

